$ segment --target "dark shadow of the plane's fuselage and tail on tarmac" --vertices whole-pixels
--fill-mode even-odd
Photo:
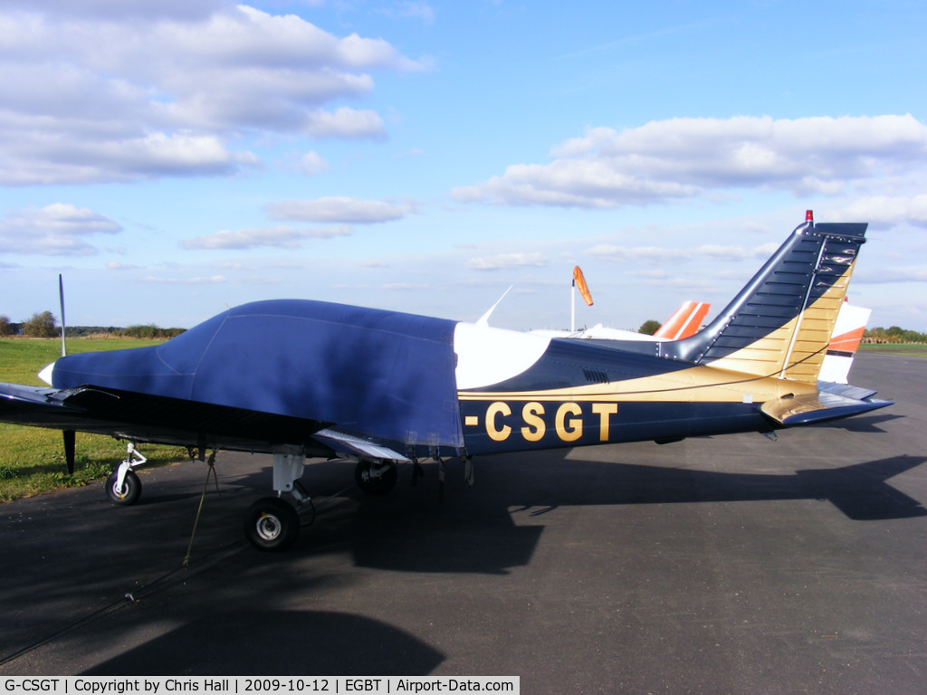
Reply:
[[[321,509],[295,551],[349,550],[358,566],[392,571],[506,574],[531,561],[546,514],[576,505],[817,499],[854,521],[917,518],[927,515],[921,502],[887,481],[924,461],[927,457],[895,456],[841,468],[750,474],[566,460],[563,452],[547,452],[484,459],[472,488],[461,481],[463,464],[446,461],[442,503],[437,466],[428,463],[417,487],[404,472],[385,498],[355,488],[347,493],[355,500],[348,509]],[[260,486],[258,477],[242,483]],[[307,486],[312,489],[309,480]],[[516,524],[518,513],[531,523]]]

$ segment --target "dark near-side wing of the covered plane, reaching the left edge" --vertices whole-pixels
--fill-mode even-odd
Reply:
[[[333,423],[99,386],[55,389],[0,383],[0,421],[117,436],[134,442],[311,454],[349,452],[313,435]]]

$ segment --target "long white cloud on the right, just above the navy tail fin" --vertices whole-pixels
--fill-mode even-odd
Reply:
[[[914,117],[673,119],[590,128],[547,164],[515,164],[451,191],[462,202],[620,208],[736,189],[838,195],[923,167],[927,126]]]

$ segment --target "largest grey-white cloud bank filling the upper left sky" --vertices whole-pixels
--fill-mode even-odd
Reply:
[[[372,70],[426,68],[383,39],[206,0],[6,4],[0,35],[6,185],[233,173],[258,163],[235,149],[254,133],[382,138],[375,111],[337,102],[369,95]]]

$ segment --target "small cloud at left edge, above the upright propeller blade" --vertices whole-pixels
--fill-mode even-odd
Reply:
[[[83,237],[119,234],[122,227],[88,208],[55,203],[44,208],[21,208],[0,219],[0,251],[42,256],[91,256],[95,246]]]

